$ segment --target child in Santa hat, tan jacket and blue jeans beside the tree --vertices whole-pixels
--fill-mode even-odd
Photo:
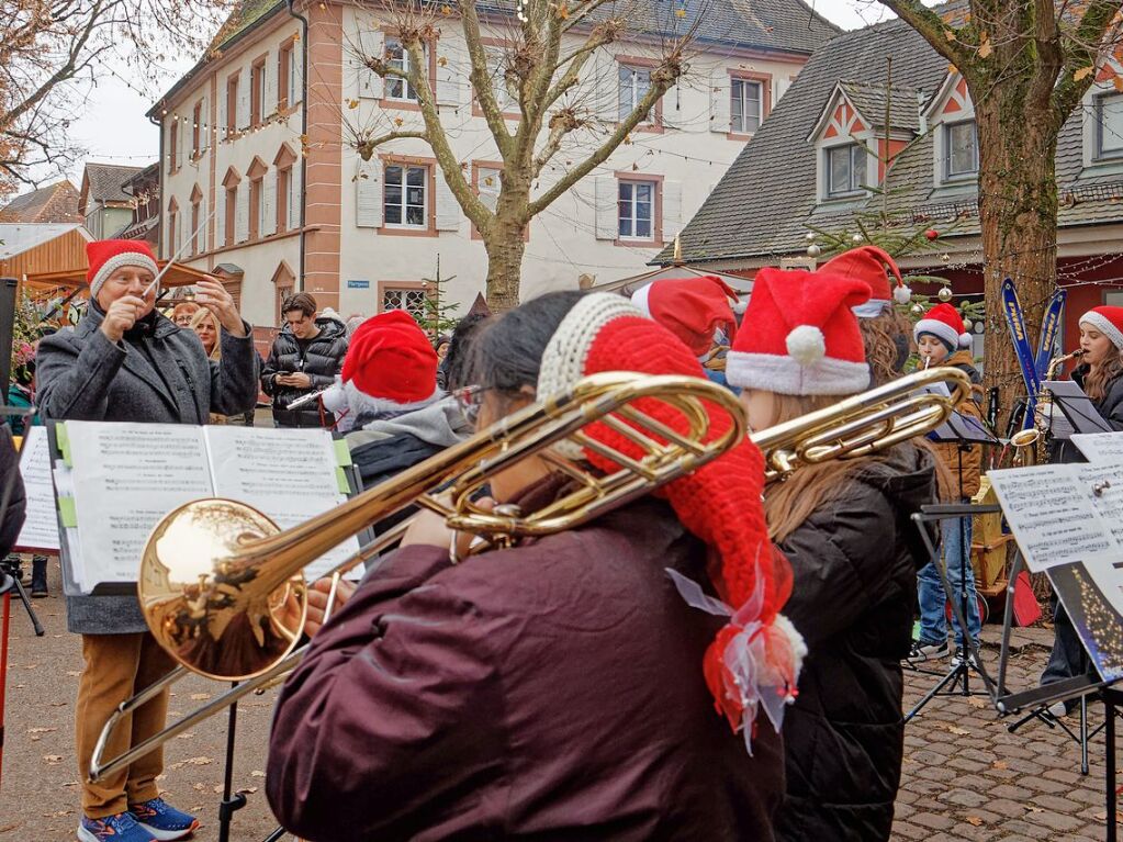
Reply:
[[[970,333],[964,329],[964,320],[958,311],[951,304],[937,304],[913,326],[913,336],[920,349],[921,367],[950,366],[970,378],[974,394],[956,406],[956,412],[982,420],[983,412],[978,404],[983,391],[978,385],[982,377],[971,357]],[[983,447],[946,441],[934,445],[933,449],[950,476],[950,483],[941,483],[940,496],[949,502],[970,502],[979,489]],[[967,631],[977,649],[983,625],[975,591],[975,570],[971,568],[971,519],[942,520],[940,534],[944,570],[951,592],[958,594],[960,588],[967,591]],[[920,597],[920,638],[913,642],[909,659],[924,661],[930,658],[947,658],[950,651],[946,613],[948,595],[943,589],[940,571],[932,561],[920,569],[916,588]],[[959,628],[958,620],[955,625],[956,647],[961,648],[964,630]]]

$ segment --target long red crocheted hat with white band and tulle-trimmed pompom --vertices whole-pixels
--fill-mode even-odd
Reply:
[[[703,377],[691,349],[670,331],[641,315],[626,299],[593,293],[574,305],[551,337],[542,354],[538,394],[557,394],[586,375],[619,370]],[[670,429],[686,430],[685,418],[667,403],[649,397],[634,406]],[[714,440],[730,430],[732,420],[716,406],[707,408],[707,440]],[[591,424],[584,432],[630,458],[643,455],[633,441],[605,424]],[[620,468],[591,449],[567,455],[584,456],[604,472]],[[706,649],[703,675],[719,712],[734,731],[743,727],[750,751],[760,707],[779,730],[806,655],[798,632],[778,613],[792,593],[792,570],[768,539],[759,503],[763,491],[764,457],[745,439],[656,492],[712,550],[710,578],[728,604],[706,597],[685,577],[672,574],[672,578],[688,604],[730,617]]]

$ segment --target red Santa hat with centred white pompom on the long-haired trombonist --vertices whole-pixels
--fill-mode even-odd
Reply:
[[[868,299],[869,285],[855,277],[760,269],[725,357],[725,379],[784,395],[861,392],[869,366],[851,308]]]

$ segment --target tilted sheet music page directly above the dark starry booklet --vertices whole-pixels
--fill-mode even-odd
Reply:
[[[1079,465],[1040,465],[987,473],[1030,570],[1106,555],[1123,546],[1092,502]]]

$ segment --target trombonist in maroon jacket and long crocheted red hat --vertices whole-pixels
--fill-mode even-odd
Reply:
[[[702,377],[665,328],[603,293],[528,302],[475,355],[480,427],[594,372]],[[666,404],[645,410],[679,425]],[[603,424],[591,434],[637,455]],[[491,492],[533,510],[567,482],[533,456]],[[266,777],[281,823],[322,841],[772,840],[769,717],[801,642],[776,613],[789,579],[761,483],[745,441],[658,497],[457,565],[456,536],[423,513],[285,683]],[[690,607],[668,568],[740,608],[736,623]]]

